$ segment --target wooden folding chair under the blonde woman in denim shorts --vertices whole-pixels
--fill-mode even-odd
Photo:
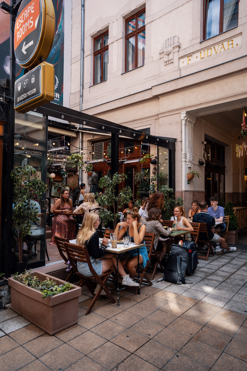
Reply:
[[[108,298],[112,303],[116,303],[116,300],[113,298],[113,296],[110,294],[109,290],[107,289],[106,282],[110,276],[110,274],[113,272],[112,269],[107,270],[107,272],[103,273],[102,275],[97,275],[95,270],[93,269],[89,253],[87,251],[86,246],[80,246],[80,245],[75,245],[73,243],[64,243],[64,247],[68,256],[68,259],[70,261],[70,264],[73,266],[76,274],[80,278],[80,282],[77,286],[83,286],[84,283],[86,286],[89,288],[90,292],[94,295],[94,289],[91,286],[91,282],[95,282],[96,284],[99,283],[100,288],[97,292],[97,294],[94,296],[89,308],[87,309],[85,316],[91,312],[93,309],[94,304],[96,303],[97,299],[100,296],[100,293],[102,290],[106,293]],[[90,272],[92,273],[93,277],[85,277],[81,273],[78,272],[77,270],[77,262],[83,262],[87,263],[89,265]]]

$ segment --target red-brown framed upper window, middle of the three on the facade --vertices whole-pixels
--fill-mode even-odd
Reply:
[[[144,65],[145,18],[146,11],[142,9],[126,19],[125,72]]]

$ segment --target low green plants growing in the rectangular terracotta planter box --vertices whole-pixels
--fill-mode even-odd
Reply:
[[[60,294],[61,292],[65,292],[70,290],[73,285],[71,283],[66,283],[65,285],[56,285],[56,282],[50,280],[48,277],[44,281],[39,281],[37,276],[31,275],[31,269],[29,272],[24,270],[24,272],[18,276],[18,272],[14,274],[14,279],[23,283],[25,286],[29,286],[35,290],[38,290],[43,295],[43,298],[47,298],[48,296],[53,296],[56,294]]]

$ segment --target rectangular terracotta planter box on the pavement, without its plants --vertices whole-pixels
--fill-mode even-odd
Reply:
[[[40,281],[48,277],[57,285],[67,283],[38,271],[31,274],[37,276]],[[69,291],[43,299],[40,291],[25,286],[14,278],[9,278],[9,286],[11,287],[11,309],[49,335],[77,324],[80,287],[73,285]]]

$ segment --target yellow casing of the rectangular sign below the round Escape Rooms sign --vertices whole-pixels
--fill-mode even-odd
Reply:
[[[30,99],[29,101],[23,102],[23,104],[20,104],[17,107],[14,106],[14,109],[17,112],[25,114],[26,112],[33,111],[35,108],[38,108],[48,102],[51,102],[54,99],[55,71],[54,71],[53,65],[47,62],[42,62],[37,67],[39,66],[41,68],[40,70],[40,95],[35,98]],[[18,83],[21,80],[23,80],[23,76],[20,79],[16,80],[15,82],[15,92],[14,92],[15,96],[16,96],[16,87],[18,86]]]

